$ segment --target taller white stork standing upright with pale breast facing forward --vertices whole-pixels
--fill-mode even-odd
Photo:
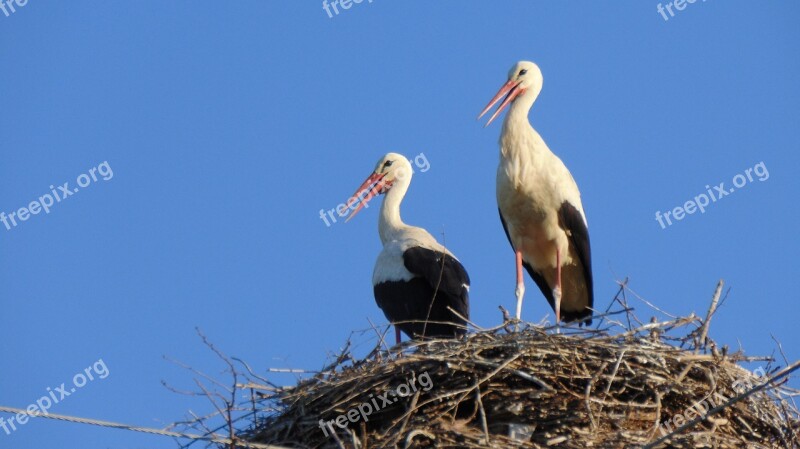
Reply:
[[[518,62],[478,116],[506,95],[486,126],[511,105],[500,134],[497,204],[516,256],[516,318],[522,314],[524,266],[555,310],[556,324],[562,319],[591,324],[592,261],[581,194],[567,167],[528,122],[542,81],[536,64]]]

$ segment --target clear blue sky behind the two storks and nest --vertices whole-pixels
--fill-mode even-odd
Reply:
[[[319,1],[29,0],[0,12],[0,211],[74,189],[103,162],[113,171],[0,224],[0,405],[24,408],[102,359],[108,376],[51,412],[155,427],[209,412],[161,385],[192,385],[164,355],[225,378],[195,327],[262,373],[319,369],[368,318],[386,322],[371,285],[377,207],[331,226],[319,214],[389,151],[424,153],[403,218],[466,266],[473,320],[498,324],[515,283],[495,202],[500,124],[475,117],[520,59],[544,74],[532,123],[582,192],[596,306],[629,277],[659,307],[704,314],[724,278],[712,336],[771,354],[774,335],[800,358],[800,4],[698,1],[668,21],[657,4],[365,0],[331,18]],[[760,162],[766,180],[656,221]],[[527,286],[523,318],[552,319]],[[355,339],[363,351],[374,337]],[[0,430],[0,447],[175,443],[33,420]]]

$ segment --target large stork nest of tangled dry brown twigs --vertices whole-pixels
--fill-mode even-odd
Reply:
[[[361,361],[343,353],[274,394],[277,412],[246,438],[295,448],[798,447],[794,392],[776,370],[759,377],[737,365],[752,359],[682,349],[666,336],[698,323],[614,335],[507,323]],[[699,328],[678,340],[696,341]],[[679,429],[698,416],[706,419]]]

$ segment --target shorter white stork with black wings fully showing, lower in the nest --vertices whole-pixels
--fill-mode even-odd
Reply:
[[[400,218],[412,172],[408,159],[389,153],[348,201],[350,208],[358,202],[349,221],[374,196],[386,194],[378,220],[383,251],[375,262],[372,285],[375,302],[395,326],[397,343],[400,331],[411,338],[458,337],[466,332],[464,319],[469,318],[464,267],[428,231]]]

